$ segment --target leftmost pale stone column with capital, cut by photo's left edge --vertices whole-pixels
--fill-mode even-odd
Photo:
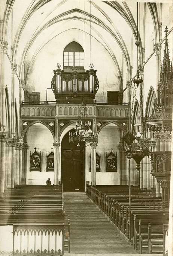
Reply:
[[[5,137],[6,134],[0,133],[0,143],[1,143],[1,158],[0,158],[0,192],[4,192],[4,174],[6,167],[5,159]]]

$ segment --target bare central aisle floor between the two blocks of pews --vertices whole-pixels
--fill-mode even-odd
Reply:
[[[137,253],[84,192],[64,192],[71,253]]]

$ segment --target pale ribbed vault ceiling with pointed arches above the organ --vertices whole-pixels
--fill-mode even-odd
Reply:
[[[5,1],[4,1],[5,2]],[[19,76],[27,77],[34,60],[41,50],[56,38],[61,49],[70,41],[79,42],[93,61],[97,42],[103,47],[115,65],[115,73],[121,84],[122,56],[127,79],[131,78],[131,38],[137,39],[137,3],[101,0],[9,0],[4,17],[3,39],[13,46],[13,62],[20,64]],[[155,42],[160,39],[157,5],[148,3],[153,23]],[[144,9],[141,7],[141,14]],[[11,29],[13,38],[11,39]],[[91,39],[90,39],[91,38]],[[68,41],[69,40],[69,41]],[[91,47],[90,47],[91,40]],[[142,43],[142,39],[139,37]],[[50,44],[51,45],[51,44]],[[63,48],[62,48],[63,49]],[[61,49],[61,51],[62,51]],[[46,49],[47,50],[47,49]],[[49,49],[54,54],[52,46]],[[142,44],[139,49],[141,62]],[[58,61],[58,60],[57,60]],[[62,59],[61,59],[62,61]],[[88,63],[87,63],[88,66]]]

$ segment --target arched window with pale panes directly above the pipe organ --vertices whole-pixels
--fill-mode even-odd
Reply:
[[[64,68],[80,67],[84,69],[84,49],[75,41],[64,48]]]

